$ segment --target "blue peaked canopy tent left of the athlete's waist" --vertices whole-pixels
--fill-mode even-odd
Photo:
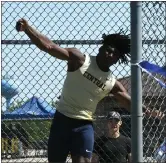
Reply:
[[[1,115],[2,120],[32,120],[32,119],[50,119],[53,118],[56,109],[51,107],[46,101],[32,97],[21,107],[12,112],[5,111]]]

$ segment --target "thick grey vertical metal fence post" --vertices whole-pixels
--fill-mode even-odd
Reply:
[[[137,63],[141,61],[141,2],[131,2],[131,138],[132,160],[143,162],[142,141],[142,80]]]

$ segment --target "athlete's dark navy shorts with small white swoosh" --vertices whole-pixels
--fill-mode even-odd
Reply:
[[[48,141],[49,162],[65,162],[69,152],[91,158],[93,145],[92,121],[69,118],[56,111]]]

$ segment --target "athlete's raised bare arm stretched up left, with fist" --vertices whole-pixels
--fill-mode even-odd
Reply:
[[[18,32],[24,31],[26,35],[31,39],[31,41],[42,51],[49,53],[50,55],[61,59],[61,60],[81,60],[84,61],[84,56],[76,48],[61,48],[56,45],[46,36],[37,32],[32,28],[25,19],[18,20],[16,24],[16,29]],[[74,50],[74,53],[72,52]]]

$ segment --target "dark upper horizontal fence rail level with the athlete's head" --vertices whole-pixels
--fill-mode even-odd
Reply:
[[[67,44],[67,45],[100,45],[102,40],[52,40],[56,44]],[[166,44],[166,40],[142,40],[143,44]],[[30,40],[1,40],[1,44],[33,44]]]

